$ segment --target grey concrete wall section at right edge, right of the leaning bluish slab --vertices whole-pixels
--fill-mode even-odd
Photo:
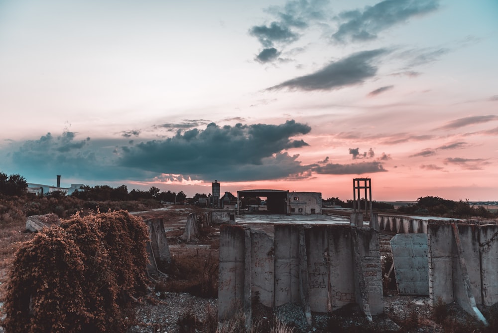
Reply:
[[[429,224],[429,297],[457,302],[482,317],[476,304],[498,302],[498,226]],[[483,317],[484,318],[484,317]]]

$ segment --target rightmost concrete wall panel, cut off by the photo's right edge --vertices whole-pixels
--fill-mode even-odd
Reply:
[[[479,228],[481,253],[482,303],[498,303],[498,226],[483,225]]]

